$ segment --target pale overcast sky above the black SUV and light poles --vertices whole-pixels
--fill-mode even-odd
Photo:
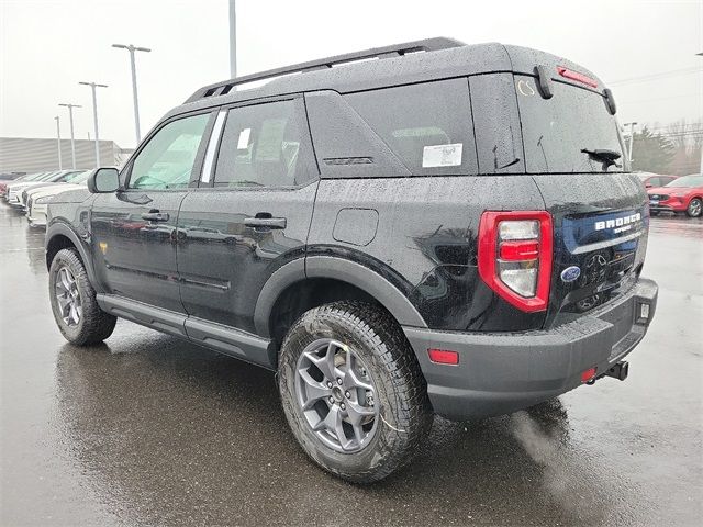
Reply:
[[[498,41],[568,57],[615,93],[621,123],[703,115],[703,2],[237,0],[238,74],[428,36]],[[197,88],[228,78],[227,0],[0,0],[0,135],[92,135],[133,147],[129,54],[137,54],[142,134]],[[679,75],[659,75],[685,70]]]

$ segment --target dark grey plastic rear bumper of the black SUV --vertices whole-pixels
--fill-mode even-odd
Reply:
[[[639,279],[621,298],[549,330],[448,333],[403,327],[427,381],[435,412],[466,419],[515,412],[581,384],[581,373],[600,375],[643,339],[657,306],[657,284]],[[646,319],[641,305],[649,306]],[[459,354],[457,366],[429,361],[427,349]]]

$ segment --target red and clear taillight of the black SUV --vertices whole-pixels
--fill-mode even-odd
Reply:
[[[479,225],[481,279],[522,311],[546,310],[551,236],[551,215],[546,211],[484,212]]]

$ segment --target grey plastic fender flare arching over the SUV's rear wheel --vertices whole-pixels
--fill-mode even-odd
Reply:
[[[309,256],[276,270],[261,289],[254,310],[254,325],[258,335],[270,337],[269,317],[276,301],[288,287],[306,278],[347,282],[375,298],[402,326],[427,327],[410,299],[378,272],[344,258]]]

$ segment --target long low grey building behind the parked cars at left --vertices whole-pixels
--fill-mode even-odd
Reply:
[[[132,149],[113,141],[100,142],[100,165],[121,167]],[[62,139],[63,168],[72,168],[70,139]],[[76,168],[96,168],[96,142],[76,139]],[[0,137],[0,172],[41,172],[58,169],[58,142],[27,137]]]

